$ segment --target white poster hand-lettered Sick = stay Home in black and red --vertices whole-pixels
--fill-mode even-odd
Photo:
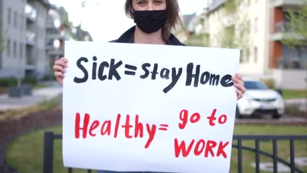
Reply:
[[[239,50],[65,42],[64,166],[229,172]]]

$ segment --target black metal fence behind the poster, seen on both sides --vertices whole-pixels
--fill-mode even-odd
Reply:
[[[43,160],[43,173],[53,173],[53,152],[54,152],[54,140],[62,139],[62,134],[54,134],[53,132],[45,132],[44,134],[44,160]],[[254,141],[255,147],[247,147],[242,145],[242,141]],[[307,147],[307,135],[292,135],[292,136],[251,136],[251,135],[235,135],[233,136],[233,141],[237,144],[233,144],[232,148],[237,149],[237,160],[238,160],[238,172],[242,172],[242,150],[250,151],[255,153],[255,172],[260,172],[260,156],[266,156],[273,159],[273,172],[277,173],[277,163],[283,163],[291,169],[291,173],[299,172],[303,173],[302,170],[299,170],[295,166],[294,155],[295,155],[295,146],[294,141],[305,141]],[[260,150],[261,141],[273,141],[273,154]],[[278,157],[277,154],[277,141],[288,141],[289,150],[290,150],[290,162]],[[72,168],[68,168],[68,172],[72,172]],[[90,173],[91,170],[88,170]]]

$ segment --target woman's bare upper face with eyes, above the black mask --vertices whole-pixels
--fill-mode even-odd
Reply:
[[[165,10],[167,0],[132,0],[135,11]]]

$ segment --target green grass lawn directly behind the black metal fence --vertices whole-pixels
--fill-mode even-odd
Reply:
[[[6,159],[8,163],[21,172],[42,172],[43,158],[43,133],[46,129],[31,132],[29,134],[16,138],[8,146],[6,150]],[[62,133],[62,127],[48,128],[47,130],[55,133]],[[307,127],[304,126],[286,126],[286,125],[235,125],[236,135],[307,135]],[[54,143],[54,172],[67,172],[63,168],[62,161],[62,141],[56,140]],[[235,142],[234,142],[235,144]],[[245,146],[254,146],[253,141],[242,142]],[[272,153],[272,142],[263,141],[260,143],[260,149]],[[278,156],[285,160],[289,158],[289,142],[278,142]],[[237,172],[237,150],[232,150],[231,171]],[[242,152],[243,156],[243,172],[254,172],[254,168],[250,166],[250,162],[254,162],[255,154],[250,152]],[[295,142],[295,156],[307,157],[306,141]],[[272,159],[260,157],[261,162],[272,162]],[[307,167],[300,167],[303,171],[307,171]],[[86,170],[76,170],[74,172],[86,172]],[[96,172],[96,171],[94,171]]]

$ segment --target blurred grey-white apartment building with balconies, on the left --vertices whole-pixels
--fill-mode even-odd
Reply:
[[[53,44],[62,39],[55,26],[56,7],[47,0],[0,0],[0,14],[0,33],[5,37],[0,77],[44,77],[52,57],[64,54]]]

